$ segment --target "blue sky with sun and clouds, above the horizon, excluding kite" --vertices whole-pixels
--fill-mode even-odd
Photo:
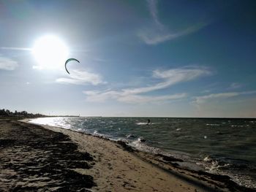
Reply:
[[[256,118],[256,1],[0,0],[0,108]],[[67,58],[77,58],[80,63]]]

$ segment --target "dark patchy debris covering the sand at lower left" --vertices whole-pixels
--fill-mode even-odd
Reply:
[[[0,120],[0,191],[88,191],[93,158],[69,137],[40,126]]]

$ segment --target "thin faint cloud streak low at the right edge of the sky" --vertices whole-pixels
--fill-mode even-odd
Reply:
[[[227,92],[227,93],[212,93],[206,96],[196,96],[193,104],[204,104],[208,101],[215,101],[217,99],[227,99],[234,96],[255,94],[256,91],[244,91],[244,92]]]

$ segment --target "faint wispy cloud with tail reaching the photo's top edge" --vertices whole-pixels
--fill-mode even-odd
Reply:
[[[140,31],[138,31],[138,37],[140,37],[140,39],[142,39],[143,42],[148,45],[157,45],[161,42],[176,39],[187,34],[192,34],[207,25],[207,23],[196,23],[184,28],[183,30],[173,32],[173,30],[168,29],[159,21],[157,0],[148,0],[147,3],[154,23],[152,23],[152,25],[148,28],[140,29]]]

